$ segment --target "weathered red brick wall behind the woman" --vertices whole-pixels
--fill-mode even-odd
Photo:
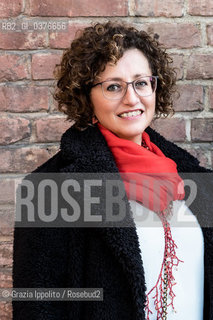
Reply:
[[[213,2],[211,0],[0,1],[0,287],[12,286],[14,182],[58,150],[70,126],[52,98],[53,68],[78,28],[108,18],[152,29],[179,68],[172,119],[153,127],[213,166]],[[65,30],[63,29],[65,28]],[[0,302],[0,319],[11,319]]]

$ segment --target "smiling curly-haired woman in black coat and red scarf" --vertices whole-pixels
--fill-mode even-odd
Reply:
[[[175,204],[192,216],[178,172],[208,170],[149,127],[154,116],[173,113],[170,63],[146,32],[111,22],[84,29],[65,51],[55,99],[74,125],[35,172],[120,173],[128,225],[16,227],[14,287],[103,288],[103,301],[13,302],[13,319],[213,319],[205,184],[191,205],[196,228],[172,225]],[[159,177],[163,189],[154,186]],[[105,200],[94,212],[107,214]],[[145,228],[144,210],[159,228]]]

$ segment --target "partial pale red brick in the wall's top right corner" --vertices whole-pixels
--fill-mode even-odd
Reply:
[[[189,0],[189,14],[194,16],[211,16],[213,15],[212,0]]]

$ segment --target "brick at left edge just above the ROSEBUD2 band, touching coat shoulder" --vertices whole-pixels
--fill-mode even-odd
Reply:
[[[55,151],[55,148],[54,148]],[[0,172],[28,173],[47,161],[53,154],[51,147],[1,149]]]

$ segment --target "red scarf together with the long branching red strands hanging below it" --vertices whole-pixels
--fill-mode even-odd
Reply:
[[[170,204],[174,200],[182,200],[185,196],[184,184],[177,172],[176,163],[167,158],[163,152],[150,141],[146,132],[142,134],[142,146],[114,135],[111,131],[98,123],[98,127],[114,156],[115,162],[123,179],[125,190],[129,199],[137,200],[145,207],[155,211],[162,221],[165,235],[164,259],[156,285],[147,294],[147,320],[152,311],[149,308],[149,296],[155,293],[155,308],[157,319],[163,315],[164,297],[164,271],[168,276],[167,291],[171,297],[171,305],[174,309],[172,290],[174,277],[173,266],[177,266],[181,260],[176,256],[177,248],[172,239],[171,229],[167,221],[170,213]],[[145,147],[144,147],[145,146]]]

